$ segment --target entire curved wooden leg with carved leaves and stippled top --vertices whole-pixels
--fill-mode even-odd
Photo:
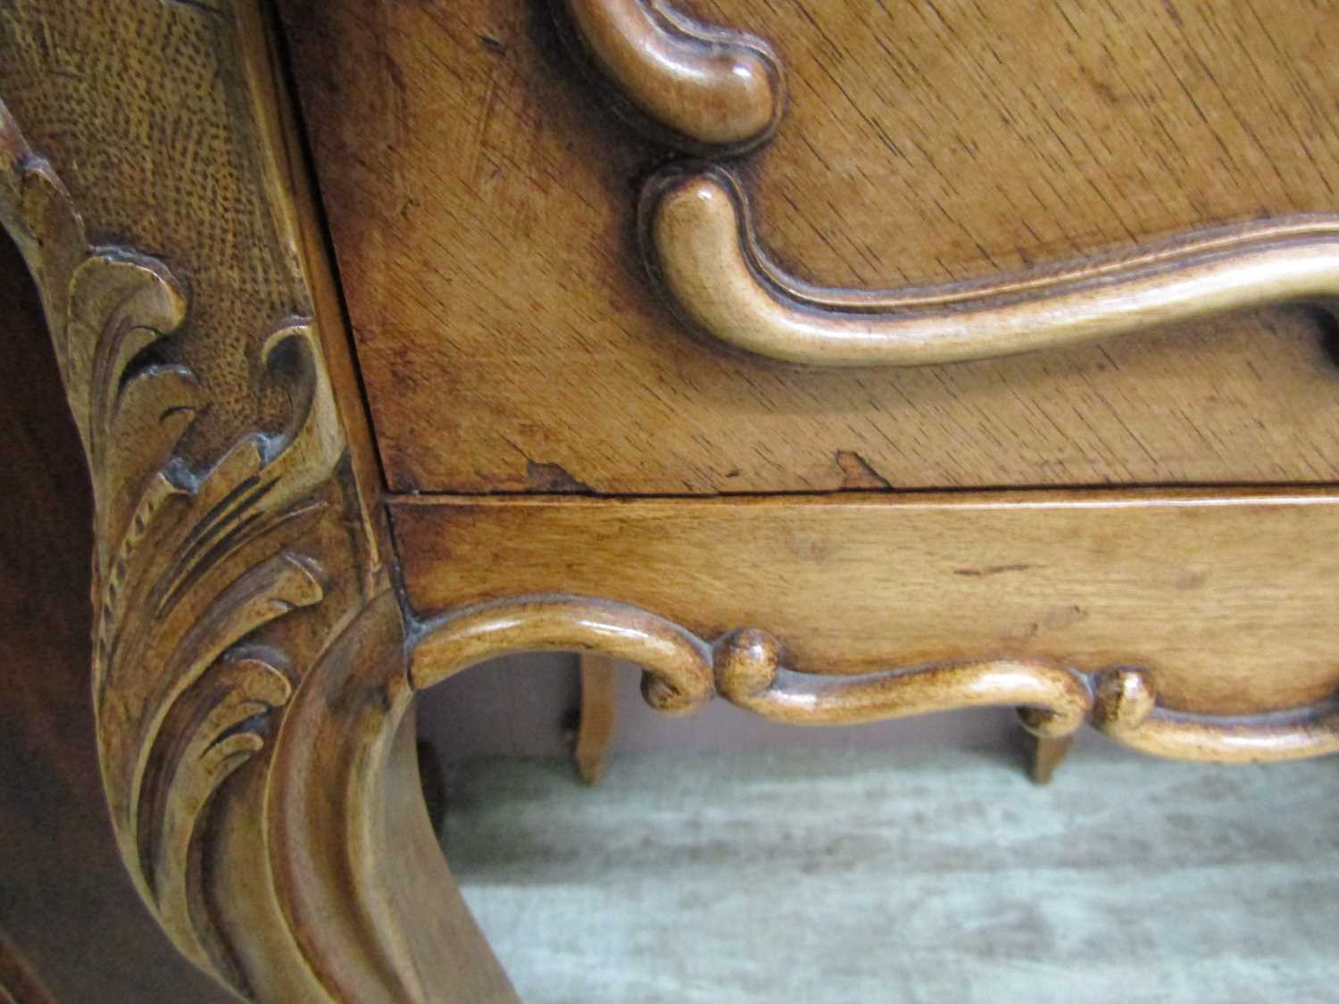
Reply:
[[[112,829],[241,996],[510,1000],[395,742],[380,486],[272,60],[252,0],[0,16],[0,224],[92,475]]]

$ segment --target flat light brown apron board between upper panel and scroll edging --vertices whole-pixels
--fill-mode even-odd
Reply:
[[[981,493],[889,501],[391,503],[414,609],[517,594],[631,604],[702,639],[758,628],[786,665],[953,659],[1148,669],[1172,711],[1245,715],[1339,689],[1327,616],[1339,495]]]

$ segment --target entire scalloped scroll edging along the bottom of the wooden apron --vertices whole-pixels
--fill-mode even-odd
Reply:
[[[968,707],[1019,708],[1042,739],[1085,723],[1157,756],[1218,763],[1289,760],[1339,752],[1339,703],[1252,718],[1184,715],[1157,707],[1149,672],[1110,667],[1085,673],[1027,659],[981,659],[854,676],[786,668],[785,647],[758,628],[707,643],[627,604],[532,596],[471,606],[422,625],[410,656],[415,688],[518,651],[597,652],[644,667],[651,707],[696,711],[712,696],[774,722],[833,726]]]

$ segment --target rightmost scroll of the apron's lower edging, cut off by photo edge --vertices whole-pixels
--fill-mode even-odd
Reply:
[[[1249,718],[1218,718],[1157,707],[1148,671],[1097,673],[1093,727],[1122,746],[1172,760],[1271,763],[1339,752],[1339,701]]]

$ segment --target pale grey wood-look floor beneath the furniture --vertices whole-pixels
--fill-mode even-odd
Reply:
[[[615,756],[449,775],[453,869],[524,1000],[1339,1000],[1339,763],[1077,751]]]

